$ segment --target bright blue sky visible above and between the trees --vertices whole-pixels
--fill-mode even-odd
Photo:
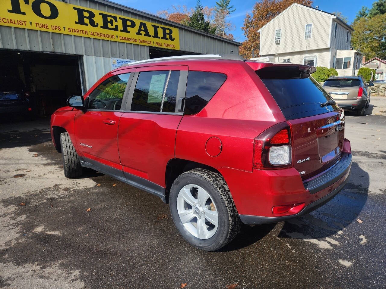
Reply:
[[[156,14],[158,10],[165,10],[171,5],[186,5],[187,7],[194,7],[196,0],[186,1],[154,1],[154,0],[111,0],[113,2],[120,3],[122,5],[132,7],[138,10],[146,11],[148,13]],[[344,16],[349,19],[349,24],[354,20],[356,13],[361,9],[362,6],[371,7],[372,0],[350,0],[350,1],[337,1],[337,0],[314,0],[313,7],[319,6],[320,10],[326,12],[341,12]],[[165,3],[168,3],[165,6]],[[216,0],[201,0],[203,6],[214,6]],[[229,20],[235,25],[235,30],[231,33],[234,35],[235,40],[242,42],[245,40],[243,31],[240,27],[243,26],[245,13],[251,12],[252,7],[256,1],[243,0],[243,1],[230,1],[231,5],[234,5],[236,11],[229,16]]]

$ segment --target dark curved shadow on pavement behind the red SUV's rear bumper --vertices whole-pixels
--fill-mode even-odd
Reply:
[[[352,162],[350,180],[343,190],[317,210],[285,222],[278,237],[320,239],[341,234],[362,211],[368,188],[369,174]]]

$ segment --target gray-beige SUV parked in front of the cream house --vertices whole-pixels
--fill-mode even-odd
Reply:
[[[362,76],[331,76],[323,87],[344,110],[356,111],[363,116],[370,105],[370,86]]]

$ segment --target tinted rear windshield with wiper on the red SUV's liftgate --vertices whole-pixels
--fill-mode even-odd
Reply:
[[[320,104],[334,101],[323,87],[296,66],[266,67],[256,71],[271,92],[287,120],[328,113],[336,104],[323,108]]]

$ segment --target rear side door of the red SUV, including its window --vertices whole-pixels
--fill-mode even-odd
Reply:
[[[120,160],[128,179],[139,176],[165,187],[166,165],[174,158],[183,116],[187,75],[187,66],[137,68],[118,131]]]

